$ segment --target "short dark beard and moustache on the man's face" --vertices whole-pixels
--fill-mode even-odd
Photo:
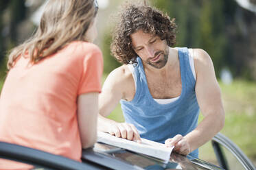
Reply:
[[[149,58],[146,63],[149,64],[150,66],[153,66],[154,68],[156,69],[162,69],[163,66],[165,66],[165,64],[167,63],[167,60],[168,60],[168,55],[169,55],[169,48],[167,47],[165,49],[165,51],[157,51],[155,54],[154,54],[154,58],[156,56],[158,56],[160,53],[160,55],[163,54],[163,59],[162,60],[159,60],[157,62],[150,62],[151,58]]]

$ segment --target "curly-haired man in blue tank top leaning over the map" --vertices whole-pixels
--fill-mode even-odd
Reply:
[[[98,129],[120,138],[174,145],[198,157],[198,147],[224,126],[220,87],[202,49],[172,48],[176,24],[146,5],[128,5],[111,51],[123,66],[108,75],[100,95]],[[126,123],[106,116],[120,101]],[[204,119],[198,123],[198,113]]]

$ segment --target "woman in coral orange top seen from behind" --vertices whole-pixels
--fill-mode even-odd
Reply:
[[[91,43],[96,13],[93,0],[47,3],[36,34],[10,53],[0,141],[78,161],[82,148],[95,143],[103,65]],[[0,160],[0,169],[27,169],[21,166]]]

